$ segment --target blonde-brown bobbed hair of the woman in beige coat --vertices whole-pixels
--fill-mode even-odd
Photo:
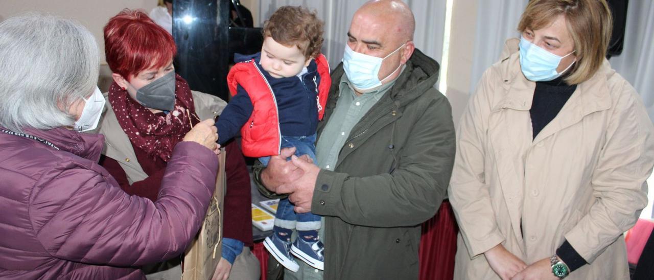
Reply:
[[[532,0],[518,24],[521,33],[549,26],[564,16],[574,42],[577,62],[566,77],[568,84],[580,84],[600,69],[611,40],[613,18],[606,0]]]

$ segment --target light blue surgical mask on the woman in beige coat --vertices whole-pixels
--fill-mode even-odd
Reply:
[[[570,54],[574,53],[570,52]],[[572,67],[574,61],[560,73],[557,72],[560,61],[566,56],[557,56],[547,50],[544,50],[536,44],[527,41],[525,37],[520,38],[520,67],[526,79],[534,82],[546,82],[557,79],[562,73],[565,73]]]

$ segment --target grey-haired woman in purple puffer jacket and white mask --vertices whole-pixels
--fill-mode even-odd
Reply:
[[[181,254],[215,188],[213,120],[172,152],[156,203],[97,164],[104,98],[93,35],[55,16],[0,23],[0,278],[144,279]]]

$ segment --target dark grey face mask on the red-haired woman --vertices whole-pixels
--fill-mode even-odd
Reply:
[[[141,105],[163,111],[175,109],[175,71],[170,71],[161,78],[136,91],[136,100]]]

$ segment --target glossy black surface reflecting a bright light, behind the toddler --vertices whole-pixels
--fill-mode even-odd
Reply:
[[[261,28],[252,27],[252,22],[239,0],[173,1],[175,71],[192,90],[228,100],[226,77],[234,53],[261,50]]]

